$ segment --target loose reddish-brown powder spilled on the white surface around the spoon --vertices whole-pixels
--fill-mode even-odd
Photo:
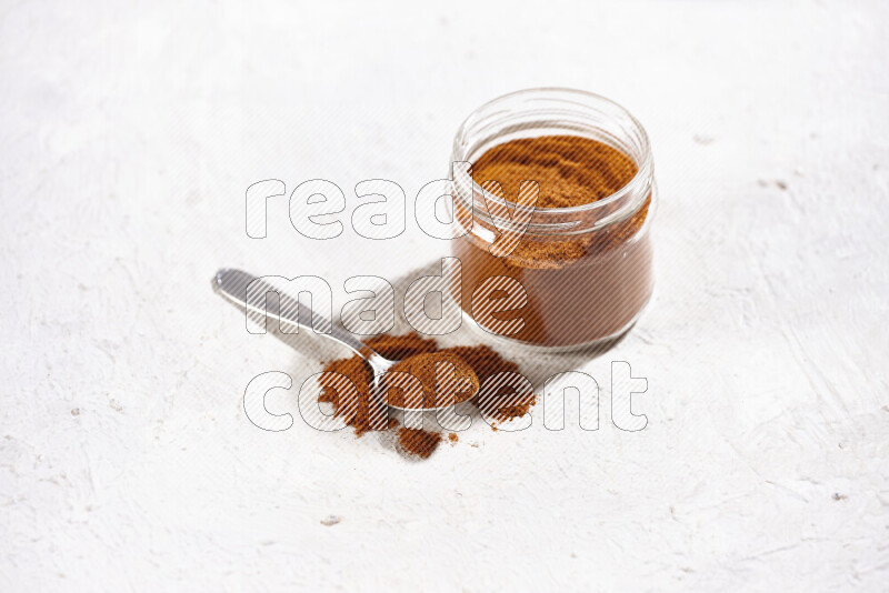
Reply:
[[[473,401],[489,419],[505,422],[519,418],[535,404],[535,393],[530,385],[517,391],[501,381],[496,381],[489,383],[485,389],[486,381],[498,373],[519,372],[518,364],[506,360],[487,345],[439,349],[433,339],[421,338],[417,333],[379,335],[367,340],[367,344],[389,360],[404,360],[418,354],[441,353],[446,358],[452,356],[461,361],[472,370],[478,378],[478,383],[482,386],[482,393],[470,401]],[[420,376],[423,374],[422,369],[410,369],[410,372],[423,382]],[[354,385],[354,392],[343,385],[341,379],[333,373],[349,378]],[[469,375],[465,374],[465,376]],[[386,414],[380,413],[380,402],[371,396],[372,381],[373,373],[370,366],[358,355],[328,362],[319,379],[322,388],[319,401],[332,404],[334,415],[354,429],[358,436],[369,431],[384,431],[393,428],[392,422],[394,421],[390,422]],[[456,398],[456,401],[460,401],[459,396]],[[417,432],[434,434],[434,438],[413,434]],[[424,459],[438,446],[441,435],[428,433],[428,431],[401,429],[398,440],[403,450]],[[423,455],[413,451],[417,448],[422,452],[428,450],[428,454]]]

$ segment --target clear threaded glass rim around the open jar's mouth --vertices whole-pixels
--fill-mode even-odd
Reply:
[[[537,97],[539,96],[539,97]],[[595,202],[589,202],[586,204],[580,205],[570,205],[570,207],[562,207],[562,208],[533,208],[533,212],[536,215],[542,215],[547,218],[548,215],[565,215],[565,214],[580,214],[587,212],[595,212],[600,209],[608,209],[616,202],[620,201],[621,199],[626,198],[628,194],[637,191],[645,192],[647,187],[652,185],[652,178],[653,178],[653,158],[651,154],[651,144],[649,142],[648,133],[646,132],[642,124],[637,120],[632,113],[630,113],[625,107],[608,99],[607,97],[602,97],[601,94],[597,94],[589,91],[583,91],[580,89],[571,89],[566,87],[538,87],[538,88],[530,88],[530,89],[521,89],[518,91],[512,91],[507,94],[502,94],[486,103],[479,105],[476,110],[473,110],[460,124],[457,129],[457,133],[455,134],[453,139],[453,154],[451,160],[457,161],[465,161],[468,158],[468,154],[461,154],[462,141],[466,135],[469,133],[469,128],[476,120],[480,118],[486,110],[490,110],[492,107],[496,107],[500,102],[509,101],[511,99],[520,99],[520,98],[528,98],[528,99],[540,99],[546,101],[565,101],[566,103],[575,103],[581,108],[590,108],[589,102],[600,103],[606,105],[610,109],[617,111],[618,114],[626,118],[627,121],[632,125],[633,130],[638,134],[639,143],[640,143],[640,152],[641,157],[637,161],[633,159],[637,165],[636,174],[627,182],[626,185],[621,187],[615,193],[602,198],[601,200],[597,200]],[[581,103],[578,101],[571,101],[570,99],[586,99],[588,103]],[[632,155],[629,155],[632,158]],[[481,185],[479,185],[475,179],[470,175],[471,182],[471,190],[472,194],[479,193],[483,195],[486,201],[492,201],[496,204],[507,207],[509,209],[521,208],[516,202],[511,202],[505,198],[499,198],[498,195],[490,193],[489,191],[485,190]]]

